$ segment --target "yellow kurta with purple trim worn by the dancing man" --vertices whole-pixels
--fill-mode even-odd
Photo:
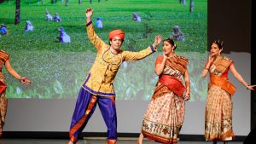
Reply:
[[[155,52],[153,46],[148,46],[139,52],[121,51],[118,55],[110,52],[110,46],[96,35],[91,21],[86,25],[87,35],[96,47],[96,60],[83,84],[83,88],[93,95],[115,95],[113,80],[119,66],[125,60],[141,60]]]

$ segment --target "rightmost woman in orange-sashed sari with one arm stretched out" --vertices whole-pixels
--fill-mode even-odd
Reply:
[[[235,137],[232,129],[232,95],[235,94],[236,87],[228,80],[228,72],[232,72],[246,89],[254,90],[255,87],[245,82],[230,58],[221,55],[223,49],[223,42],[212,43],[207,63],[201,72],[202,78],[205,78],[207,73],[210,75],[205,112],[205,137],[213,144],[217,141],[224,141],[224,144],[227,144]]]

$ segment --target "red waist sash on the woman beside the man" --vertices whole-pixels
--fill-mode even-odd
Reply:
[[[177,78],[169,75],[160,76],[159,82],[171,89],[178,96],[182,96],[186,89],[183,83],[181,83]]]

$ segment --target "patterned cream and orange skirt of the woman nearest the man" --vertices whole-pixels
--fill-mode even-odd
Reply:
[[[159,85],[143,117],[142,133],[149,140],[176,144],[185,112],[183,97]]]

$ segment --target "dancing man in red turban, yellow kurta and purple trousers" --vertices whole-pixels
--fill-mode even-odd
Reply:
[[[96,35],[92,25],[93,9],[86,9],[86,29],[90,42],[96,48],[96,60],[79,91],[76,107],[70,126],[68,144],[76,143],[85,125],[99,105],[102,117],[108,127],[108,144],[117,142],[117,115],[115,107],[115,92],[113,81],[123,61],[141,60],[153,54],[160,44],[161,36],[154,38],[154,43],[138,52],[123,51],[121,46],[125,39],[125,32],[120,29],[109,32],[109,44],[104,43]]]

